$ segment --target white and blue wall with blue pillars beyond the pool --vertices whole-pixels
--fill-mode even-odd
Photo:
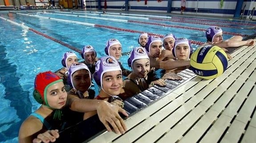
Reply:
[[[159,0],[160,1],[160,0]],[[168,2],[169,1],[169,2]],[[86,9],[98,9],[98,0],[86,0]],[[237,0],[187,0],[186,10],[187,14],[199,15],[219,15],[219,16],[233,16],[236,9]],[[142,12],[167,12],[168,4],[171,5],[171,13],[180,13],[180,0],[129,0],[129,11]],[[105,0],[101,0],[101,10],[125,10],[125,0],[106,0],[106,9],[104,8]],[[256,7],[254,0],[244,0],[245,6],[244,15],[249,15],[252,8]],[[196,8],[198,10],[196,11]],[[254,13],[256,15],[256,12]]]

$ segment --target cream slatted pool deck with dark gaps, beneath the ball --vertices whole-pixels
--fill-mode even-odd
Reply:
[[[256,46],[231,55],[220,77],[194,75],[128,118],[124,135],[106,131],[90,142],[256,143]]]

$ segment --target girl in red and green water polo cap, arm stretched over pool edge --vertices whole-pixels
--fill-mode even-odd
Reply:
[[[33,97],[42,106],[28,116],[21,125],[20,143],[55,142],[59,137],[58,129],[64,129],[61,109],[65,104],[70,104],[68,107],[77,112],[97,110],[99,119],[108,131],[112,131],[110,125],[116,133],[123,134],[127,130],[124,121],[118,114],[118,112],[122,112],[128,116],[124,109],[98,100],[79,99],[78,97],[78,100],[72,97],[67,100],[63,80],[50,71],[37,75]]]

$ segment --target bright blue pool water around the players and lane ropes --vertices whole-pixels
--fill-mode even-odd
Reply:
[[[25,26],[44,33],[45,35],[67,43],[70,46],[77,48],[78,50],[81,50],[84,45],[90,44],[96,49],[98,57],[105,55],[104,48],[108,39],[119,39],[119,41],[122,43],[122,51],[129,52],[134,46],[138,46],[137,39],[139,34],[116,31],[106,28],[94,28],[77,23],[62,22],[53,19],[43,19],[41,17],[33,17],[29,15],[107,25],[136,31],[151,32],[161,35],[173,33],[177,37],[186,37],[187,39],[200,42],[206,42],[203,31],[141,23],[114,22],[102,19],[73,17],[68,15],[104,17],[108,19],[129,19],[134,21],[181,25],[186,27],[209,27],[209,25],[191,24],[186,23],[186,21],[173,22],[164,20],[143,20],[142,18],[138,19],[138,17],[147,17],[146,15],[140,15],[137,16],[136,19],[133,19],[131,17],[127,18],[125,15],[123,15],[123,17],[115,17],[114,14],[111,16],[106,16],[98,15],[97,13],[94,15],[86,13],[22,13],[27,15],[0,12],[0,16],[12,20],[16,23],[22,23]],[[219,20],[220,22],[218,24],[223,24],[223,26],[234,25],[223,22],[223,19],[214,20]],[[204,19],[196,21],[198,23],[203,23]],[[217,22],[215,23],[217,24]],[[240,23],[243,24],[242,22]],[[235,26],[249,27],[248,25]],[[241,28],[222,27],[222,29],[223,31],[247,35],[255,33],[255,30],[245,30]],[[20,124],[29,116],[29,114],[31,114],[31,112],[35,111],[39,107],[39,104],[37,104],[37,102],[32,97],[34,77],[39,72],[47,70],[56,71],[60,69],[62,54],[66,51],[72,50],[41,35],[37,35],[33,31],[23,29],[19,25],[12,24],[3,19],[0,19],[0,31],[0,142],[15,143],[18,141],[17,136]],[[224,35],[223,38],[228,39],[231,36],[232,35]],[[195,44],[192,46],[194,49],[198,47],[198,45]],[[80,57],[79,59],[81,61],[81,56],[77,52],[75,53],[78,57]],[[126,63],[127,58],[128,55],[124,55],[122,56],[121,61],[124,67],[129,69]]]

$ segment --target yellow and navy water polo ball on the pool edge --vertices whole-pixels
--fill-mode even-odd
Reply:
[[[219,46],[204,45],[191,55],[191,70],[199,77],[219,77],[228,67],[228,57]]]

